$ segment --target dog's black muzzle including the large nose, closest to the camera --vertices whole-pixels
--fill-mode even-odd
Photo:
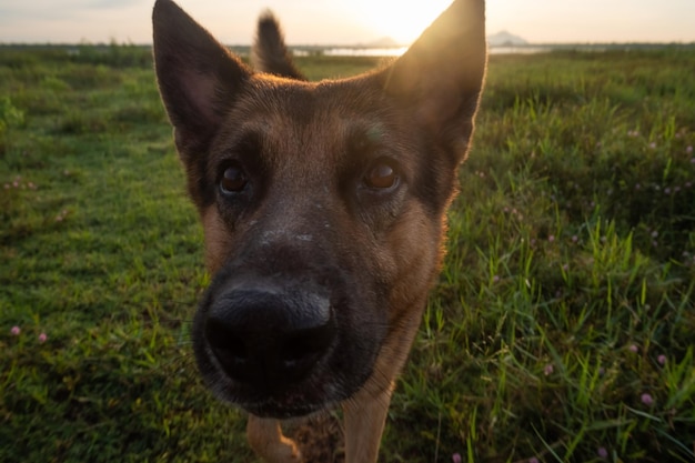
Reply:
[[[271,248],[214,275],[192,340],[218,397],[258,416],[302,416],[346,400],[372,375],[386,303],[335,262]]]

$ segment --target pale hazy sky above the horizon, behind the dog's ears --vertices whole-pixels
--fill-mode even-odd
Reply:
[[[271,8],[290,44],[407,43],[451,0],[179,0],[228,44]],[[0,42],[150,43],[153,0],[0,0]],[[488,0],[488,33],[531,42],[695,42],[695,0]]]

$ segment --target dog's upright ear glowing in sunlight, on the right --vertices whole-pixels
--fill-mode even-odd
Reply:
[[[382,72],[386,93],[465,159],[486,68],[485,2],[456,0]]]

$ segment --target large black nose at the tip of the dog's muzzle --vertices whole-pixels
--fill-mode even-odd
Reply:
[[[310,374],[330,349],[335,328],[328,296],[259,286],[218,296],[204,333],[232,380],[272,392]]]

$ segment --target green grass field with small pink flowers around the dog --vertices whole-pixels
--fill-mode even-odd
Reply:
[[[695,460],[693,76],[491,59],[380,461]],[[149,51],[0,48],[0,461],[255,461],[194,369],[208,282]]]

